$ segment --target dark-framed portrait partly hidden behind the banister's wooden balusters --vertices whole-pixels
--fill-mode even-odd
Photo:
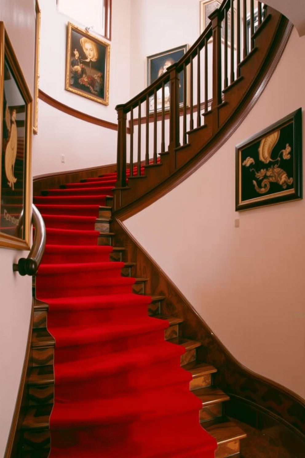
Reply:
[[[169,49],[162,53],[154,54],[146,58],[146,86],[150,86],[159,76],[166,72],[167,68],[178,62],[187,52],[187,44],[177,48]],[[187,72],[187,98],[189,93],[189,82]],[[179,75],[179,101],[183,103],[183,71]],[[154,111],[154,98],[150,97],[150,112]],[[164,87],[164,103],[165,109],[170,108],[170,83],[166,83]],[[162,90],[157,91],[157,109],[162,108]]]

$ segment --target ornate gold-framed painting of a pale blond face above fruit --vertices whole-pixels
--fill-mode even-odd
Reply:
[[[66,90],[109,104],[110,45],[68,22]]]

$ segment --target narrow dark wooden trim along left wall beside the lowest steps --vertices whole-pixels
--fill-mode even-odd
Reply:
[[[32,310],[31,310],[29,330],[27,334],[26,352],[25,352],[25,357],[23,361],[19,390],[17,394],[13,419],[11,422],[11,429],[10,429],[10,433],[9,433],[8,440],[6,443],[4,458],[12,458],[12,452],[14,451],[13,447],[16,446],[16,441],[18,440],[18,435],[19,435],[19,429],[21,427],[21,422],[23,420],[21,418],[21,408],[26,398],[24,387],[25,387],[25,383],[27,380],[27,368],[28,368],[28,362],[29,362],[30,351],[31,351],[33,317],[34,317],[34,300],[32,298]]]

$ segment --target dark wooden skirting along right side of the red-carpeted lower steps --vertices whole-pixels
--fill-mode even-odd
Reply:
[[[116,242],[127,247],[128,261],[150,278],[150,294],[165,295],[162,313],[184,319],[182,333],[202,343],[197,355],[217,369],[214,384],[232,398],[251,403],[257,412],[284,424],[305,441],[305,400],[288,388],[247,369],[226,349],[177,286],[118,219],[113,218]],[[137,272],[139,274],[139,272]],[[243,420],[244,421],[244,420]]]

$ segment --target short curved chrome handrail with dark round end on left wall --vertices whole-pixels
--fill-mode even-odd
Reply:
[[[22,220],[23,213],[19,221]],[[37,207],[32,204],[32,224],[35,226],[34,240],[31,251],[27,258],[20,258],[18,263],[13,264],[13,271],[19,272],[20,275],[35,275],[41,259],[43,257],[44,247],[46,244],[46,227],[43,217]]]

